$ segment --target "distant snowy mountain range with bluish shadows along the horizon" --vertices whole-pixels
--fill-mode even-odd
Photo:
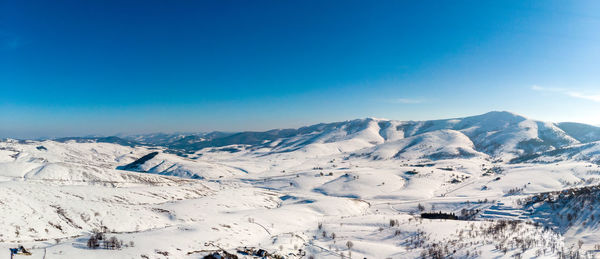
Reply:
[[[357,119],[320,123],[298,129],[263,132],[145,134],[121,137],[61,138],[56,141],[105,142],[126,146],[161,146],[173,153],[205,148],[267,153],[297,150],[318,154],[349,153],[372,159],[454,158],[489,156],[523,161],[542,156],[597,159],[600,127],[581,123],[550,123],[510,112],[430,120]],[[598,155],[600,157],[600,155]]]

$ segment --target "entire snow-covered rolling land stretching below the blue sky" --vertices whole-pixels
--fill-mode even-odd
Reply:
[[[600,184],[598,132],[491,112],[153,135],[160,145],[4,140],[0,247],[27,258],[594,256],[600,204],[573,190]],[[123,247],[88,248],[101,229]]]

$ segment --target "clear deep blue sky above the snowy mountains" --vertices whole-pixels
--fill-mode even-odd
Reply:
[[[598,1],[2,1],[0,137],[600,124]]]

